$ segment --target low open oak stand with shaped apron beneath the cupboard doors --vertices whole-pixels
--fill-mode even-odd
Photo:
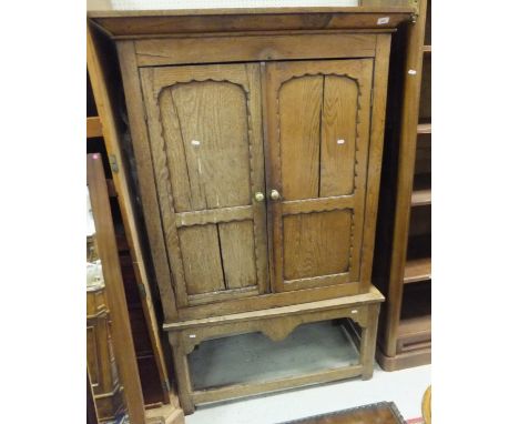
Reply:
[[[355,376],[362,376],[363,380],[370,378],[374,366],[379,303],[383,300],[381,294],[375,287],[372,287],[369,293],[356,296],[164,325],[165,330],[170,332],[170,343],[173,347],[177,374],[179,395],[184,413],[191,414],[194,412],[195,405],[207,402]],[[362,327],[360,359],[356,365],[266,382],[234,384],[208,390],[193,388],[187,355],[205,340],[262,332],[273,341],[281,341],[301,324],[345,317],[352,319]]]

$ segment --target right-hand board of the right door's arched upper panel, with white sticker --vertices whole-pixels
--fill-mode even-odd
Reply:
[[[320,119],[319,196],[352,194],[355,178],[358,98],[355,80],[326,75]]]

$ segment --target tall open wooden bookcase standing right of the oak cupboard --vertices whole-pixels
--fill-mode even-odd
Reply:
[[[386,296],[377,361],[387,371],[430,363],[430,0],[419,0],[416,22],[393,49],[374,262]]]

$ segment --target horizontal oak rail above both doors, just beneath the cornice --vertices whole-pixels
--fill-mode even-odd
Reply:
[[[141,67],[287,59],[369,58],[373,34],[278,34],[150,39],[135,42]],[[265,49],[268,46],[268,49]],[[204,54],[200,54],[203,51]]]

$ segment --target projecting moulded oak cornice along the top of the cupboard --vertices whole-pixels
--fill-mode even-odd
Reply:
[[[366,2],[364,2],[366,4]],[[372,2],[380,4],[381,1]],[[394,30],[409,21],[407,1],[393,6],[195,10],[91,9],[88,17],[113,38],[253,31]],[[395,6],[398,4],[398,6]],[[408,3],[407,3],[408,4]]]

